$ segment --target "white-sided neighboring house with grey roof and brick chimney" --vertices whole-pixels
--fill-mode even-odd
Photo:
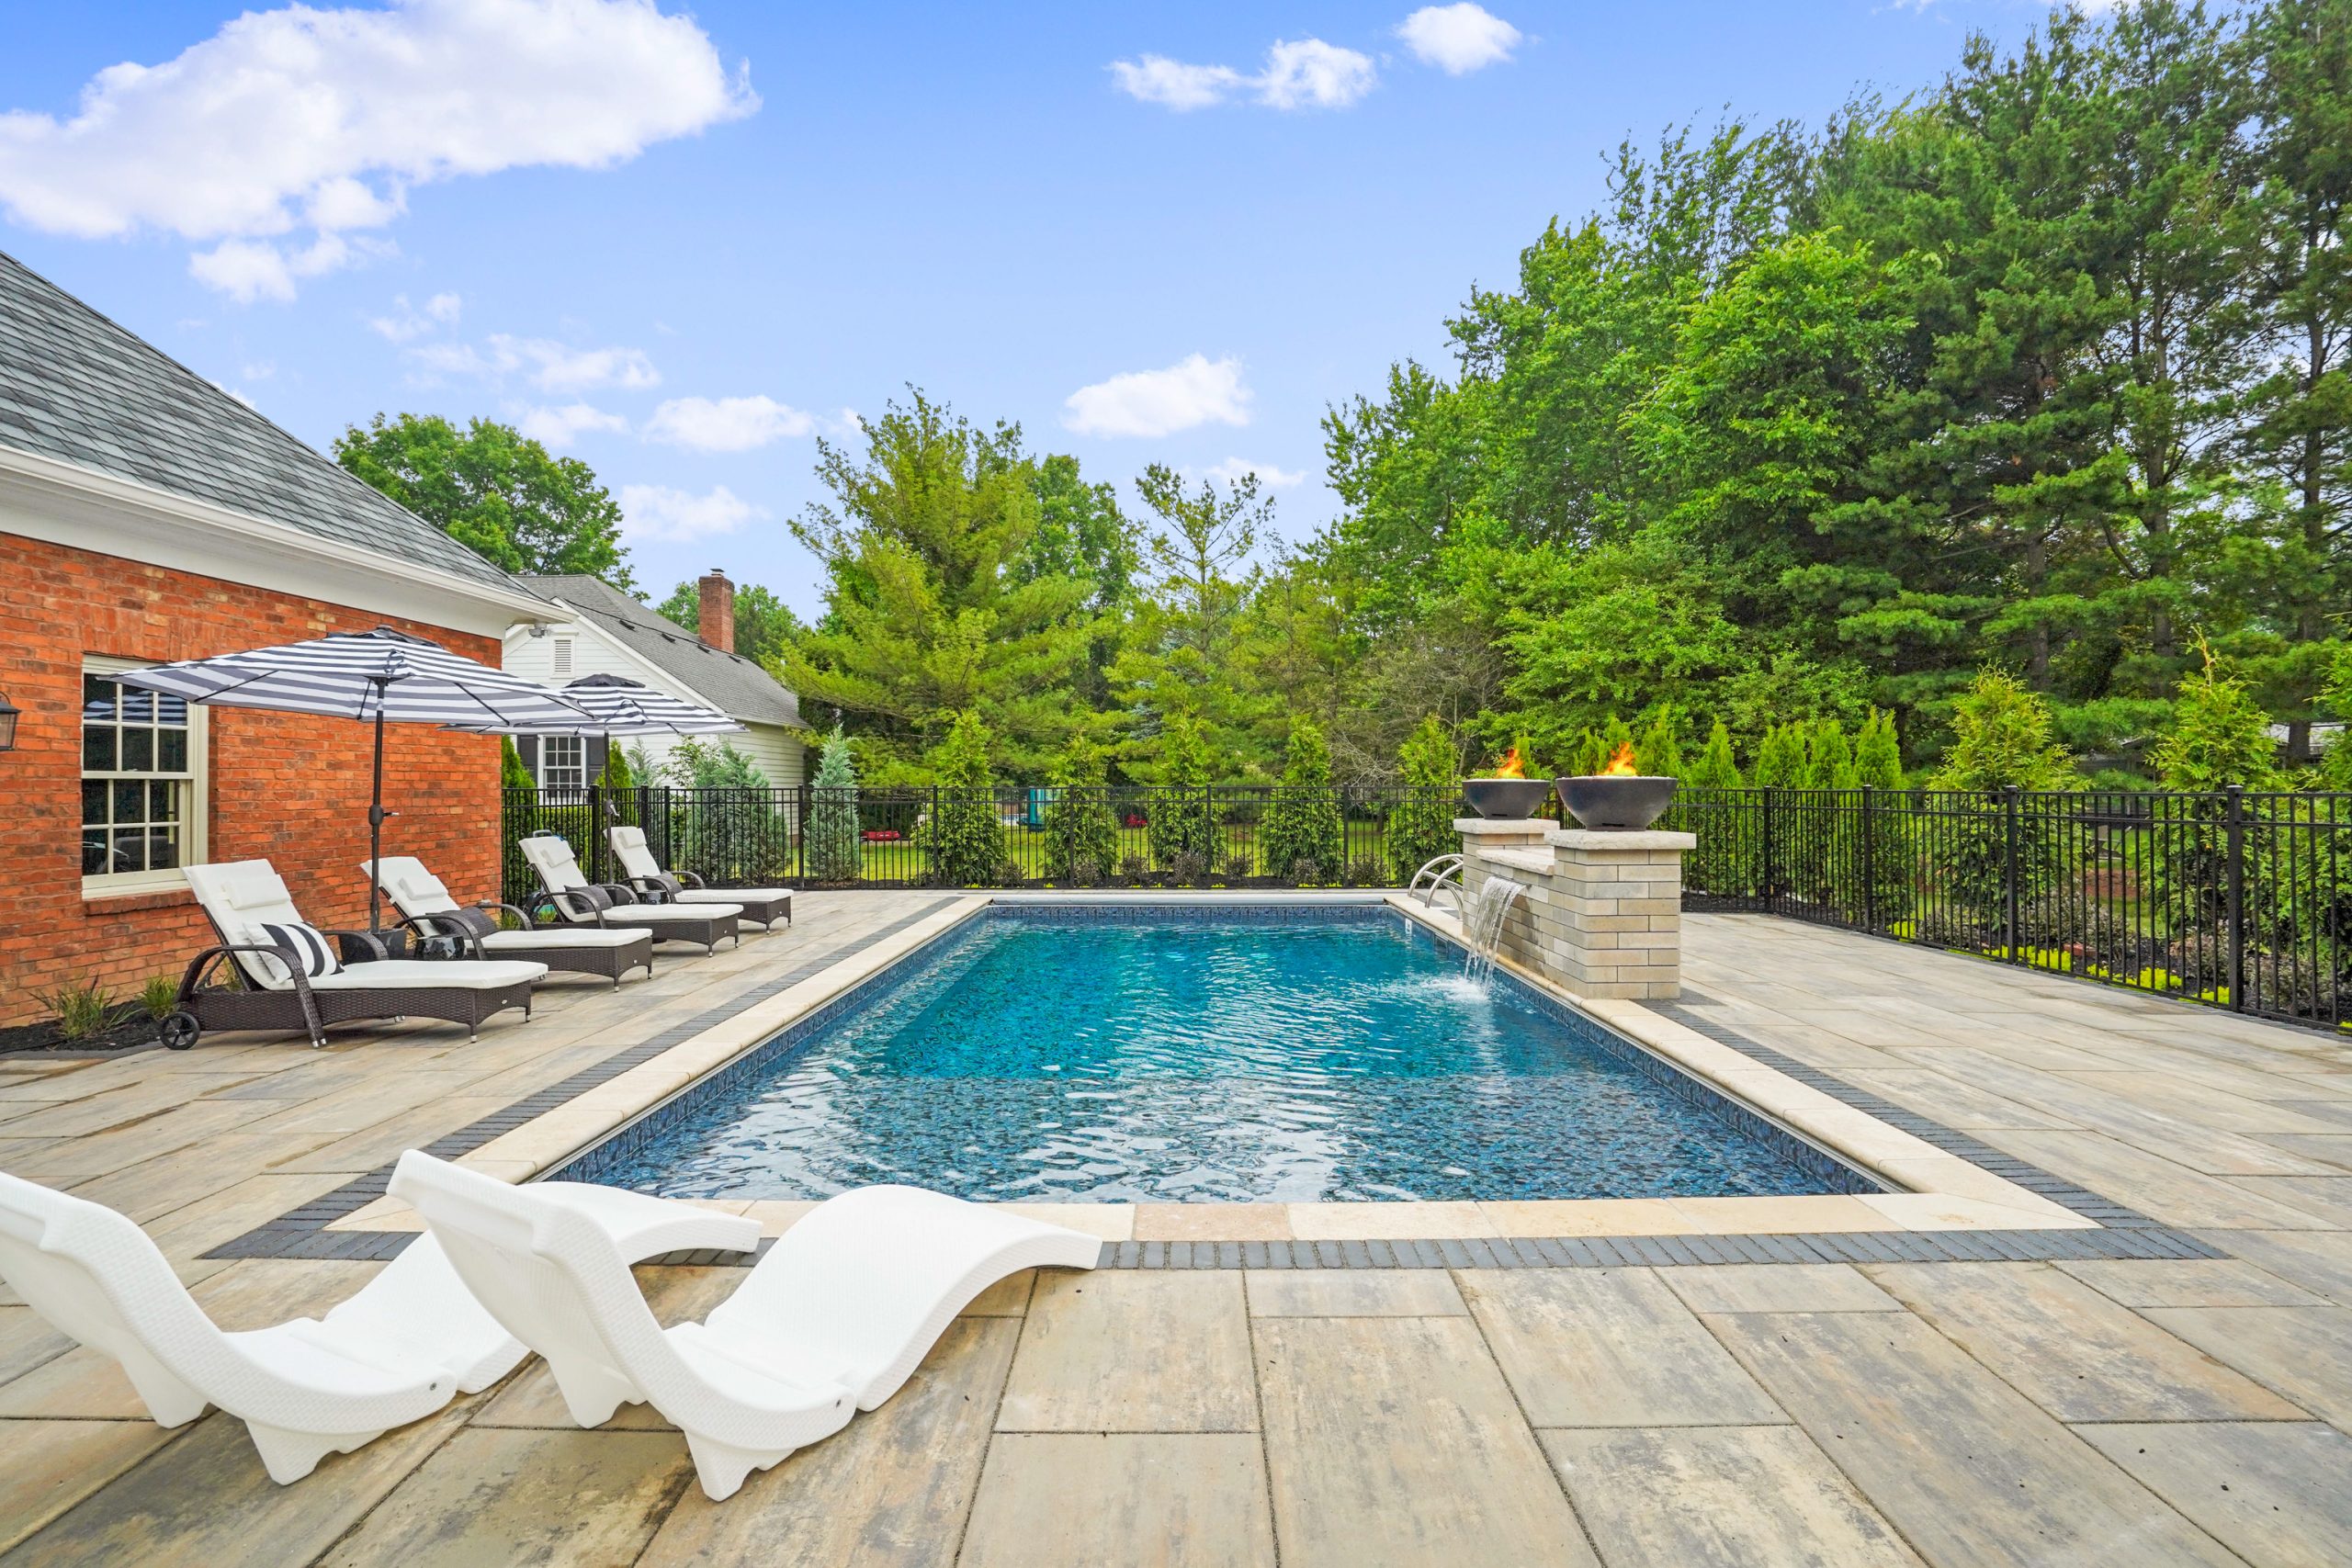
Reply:
[[[713,581],[715,578],[715,581]],[[807,762],[795,738],[800,703],[774,675],[731,646],[715,646],[593,576],[524,576],[524,585],[548,599],[550,614],[506,632],[506,668],[543,686],[562,686],[581,675],[621,675],[659,691],[717,708],[743,724],[743,733],[713,736],[750,757],[776,788],[800,788]],[[734,588],[724,576],[703,578],[706,632],[734,642]],[[661,766],[670,736],[630,738]],[[522,764],[541,785],[588,783],[604,766],[602,741],[515,743]]]

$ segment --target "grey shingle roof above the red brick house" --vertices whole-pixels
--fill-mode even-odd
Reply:
[[[318,538],[513,578],[294,435],[0,252],[0,447],[282,522]]]

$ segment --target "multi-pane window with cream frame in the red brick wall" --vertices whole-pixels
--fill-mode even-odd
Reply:
[[[205,710],[82,661],[82,891],[179,886],[205,858]]]

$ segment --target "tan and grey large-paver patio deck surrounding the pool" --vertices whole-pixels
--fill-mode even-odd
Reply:
[[[318,1312],[381,1265],[209,1253],[934,900],[807,893],[788,931],[560,983],[470,1046],[0,1063],[0,1168],[134,1213],[228,1328]],[[1762,917],[1689,917],[1684,973],[1684,1018],[2220,1255],[1517,1269],[1465,1241],[1454,1267],[1023,1276],[722,1505],[656,1415],[576,1432],[536,1363],[280,1488],[240,1422],[155,1429],[0,1291],[0,1568],[2352,1563],[2352,1041]],[[642,1269],[663,1321],[734,1279]]]

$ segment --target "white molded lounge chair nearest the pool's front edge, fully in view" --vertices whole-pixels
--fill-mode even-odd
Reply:
[[[1018,1269],[1091,1269],[1096,1237],[920,1187],[863,1187],[793,1225],[701,1324],[661,1328],[593,1225],[536,1187],[409,1152],[393,1194],[492,1316],[548,1359],[572,1420],[652,1403],[713,1500],[898,1392],[974,1295]]]

